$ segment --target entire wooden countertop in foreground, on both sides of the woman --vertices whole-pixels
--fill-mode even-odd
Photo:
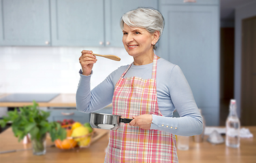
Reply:
[[[195,143],[191,141],[189,143],[189,150],[178,150],[179,163],[219,163],[219,162],[241,162],[249,163],[256,160],[256,126],[246,126],[249,128],[254,137],[240,140],[240,147],[238,149],[226,147],[225,143],[219,145],[212,145],[206,141],[208,136],[204,137],[204,142]],[[47,145],[53,143],[48,140]],[[46,155],[33,156],[31,150],[16,151],[12,153],[0,154],[1,162],[103,162],[105,157],[105,149],[108,145],[108,134],[105,134],[101,139],[96,141],[89,148],[84,149],[71,149],[61,150],[56,147],[48,147]],[[25,149],[30,147],[29,145],[23,145],[18,143],[18,139],[14,137],[11,128],[5,130],[0,134],[0,151],[11,149]]]

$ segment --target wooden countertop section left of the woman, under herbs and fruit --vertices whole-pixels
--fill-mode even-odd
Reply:
[[[101,129],[99,129],[101,130]],[[70,162],[104,162],[105,149],[108,146],[108,130],[107,134],[92,143],[89,148],[59,149],[52,147],[50,137],[46,139],[46,154],[43,156],[34,156],[33,151],[29,149],[31,143],[23,144],[18,142],[18,138],[14,137],[12,128],[8,128],[0,134],[0,151],[8,151],[13,149],[28,149],[24,151],[16,151],[11,153],[0,154],[0,162],[4,163],[35,163],[35,162],[52,162],[52,163],[70,163]]]

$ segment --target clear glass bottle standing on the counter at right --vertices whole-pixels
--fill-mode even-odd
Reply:
[[[226,121],[226,146],[240,146],[240,120],[236,113],[236,100],[231,99],[229,105],[229,115]]]

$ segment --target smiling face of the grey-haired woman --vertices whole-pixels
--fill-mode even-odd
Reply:
[[[130,56],[139,56],[153,52],[154,33],[151,34],[146,29],[130,27],[124,24],[123,45]]]

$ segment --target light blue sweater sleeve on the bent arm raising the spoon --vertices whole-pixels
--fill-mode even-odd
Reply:
[[[85,113],[95,112],[110,105],[114,92],[111,74],[93,90],[91,90],[91,75],[82,75],[80,70],[80,81],[76,91],[76,109]]]

